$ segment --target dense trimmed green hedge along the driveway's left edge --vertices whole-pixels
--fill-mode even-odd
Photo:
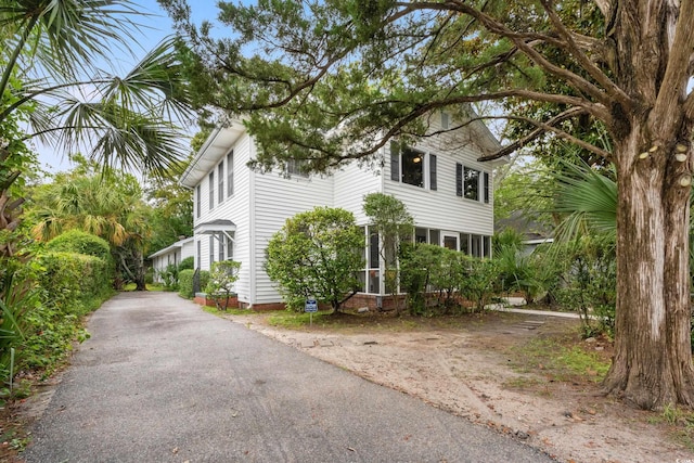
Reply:
[[[108,244],[97,236],[66,233],[49,242],[46,250],[37,252],[14,275],[13,284],[24,288],[23,307],[17,307],[16,299],[3,301],[4,309],[22,311],[18,335],[11,344],[0,345],[3,376],[37,370],[50,374],[72,350],[75,339],[81,342],[89,336],[81,317],[113,295],[113,278]],[[13,372],[10,347],[15,348]]]

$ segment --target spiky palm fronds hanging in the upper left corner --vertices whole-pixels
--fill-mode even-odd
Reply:
[[[125,76],[99,68],[136,42],[138,10],[129,0],[0,0],[0,127],[21,113],[30,127],[22,141],[87,147],[104,165],[163,172],[179,159],[170,120],[185,117],[188,94],[174,40]]]

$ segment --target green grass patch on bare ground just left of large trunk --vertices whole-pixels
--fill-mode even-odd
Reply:
[[[510,349],[512,365],[523,373],[538,373],[550,381],[599,383],[609,360],[567,339],[535,338]]]

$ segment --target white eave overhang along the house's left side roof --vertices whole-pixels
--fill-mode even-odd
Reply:
[[[229,149],[245,130],[243,123],[239,119],[216,127],[185,168],[179,183],[189,189],[195,188],[219,163],[219,159],[229,153]]]

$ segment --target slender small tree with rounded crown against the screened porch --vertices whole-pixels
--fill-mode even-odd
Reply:
[[[397,256],[400,243],[412,237],[414,219],[404,203],[395,196],[384,193],[370,193],[364,196],[362,205],[369,217],[370,227],[378,233],[378,254],[385,262],[386,291],[394,296],[396,312],[399,304],[396,297],[400,284],[400,272]]]

